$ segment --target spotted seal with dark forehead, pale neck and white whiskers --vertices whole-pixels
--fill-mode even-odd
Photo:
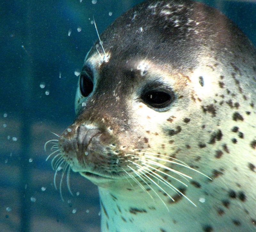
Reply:
[[[246,36],[202,3],[149,0],[100,39],[59,149],[99,186],[102,232],[256,231],[256,53]]]

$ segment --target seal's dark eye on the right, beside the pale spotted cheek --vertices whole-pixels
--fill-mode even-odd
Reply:
[[[154,108],[164,108],[172,103],[174,95],[165,91],[150,90],[143,93],[141,98]]]

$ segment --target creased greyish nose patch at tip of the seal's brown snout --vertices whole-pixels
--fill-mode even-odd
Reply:
[[[88,127],[81,125],[77,128],[77,148],[81,155],[85,154],[86,148],[91,142],[92,138],[96,134],[100,134],[101,131],[97,128],[89,129]]]

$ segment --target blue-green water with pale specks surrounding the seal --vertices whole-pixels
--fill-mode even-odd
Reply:
[[[97,187],[71,171],[69,193],[50,146],[74,120],[76,85],[97,33],[141,0],[16,0],[0,3],[0,231],[99,232]],[[254,1],[203,1],[256,45]],[[65,178],[65,177],[64,177]]]

